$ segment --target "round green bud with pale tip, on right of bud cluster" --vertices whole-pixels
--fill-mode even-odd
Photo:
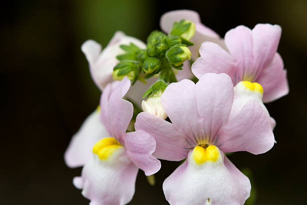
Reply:
[[[178,44],[167,51],[166,57],[172,66],[179,67],[187,59],[191,59],[191,51],[186,45]]]

